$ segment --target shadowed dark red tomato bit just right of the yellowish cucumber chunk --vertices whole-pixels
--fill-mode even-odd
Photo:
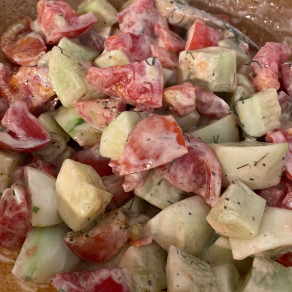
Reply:
[[[123,188],[125,183],[124,177],[117,177],[116,175],[104,176],[101,178],[106,190],[112,194],[111,201],[106,208],[105,213],[109,213],[117,207],[125,205],[133,196],[133,192],[126,193]]]

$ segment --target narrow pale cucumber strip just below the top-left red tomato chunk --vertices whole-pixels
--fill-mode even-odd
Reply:
[[[96,53],[74,42],[68,37],[62,37],[62,39],[58,43],[58,46],[62,49],[65,49],[67,52],[74,55],[84,63],[90,61],[93,62],[97,57]]]

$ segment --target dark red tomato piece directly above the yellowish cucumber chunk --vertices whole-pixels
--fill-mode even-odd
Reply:
[[[91,165],[101,177],[112,175],[113,173],[109,166],[110,158],[100,156],[99,146],[100,143],[96,143],[84,150],[76,152],[73,160]]]

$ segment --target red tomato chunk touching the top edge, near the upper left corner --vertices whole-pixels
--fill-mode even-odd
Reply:
[[[40,0],[37,13],[37,23],[48,44],[56,44],[62,37],[80,37],[97,21],[92,12],[78,17],[77,12],[64,1]]]

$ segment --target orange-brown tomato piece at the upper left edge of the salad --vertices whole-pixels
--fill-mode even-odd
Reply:
[[[1,49],[10,63],[36,66],[47,52],[43,37],[31,29],[32,19],[18,18],[1,37]]]

